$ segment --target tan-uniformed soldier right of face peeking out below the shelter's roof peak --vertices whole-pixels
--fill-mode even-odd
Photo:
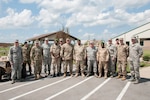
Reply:
[[[61,57],[64,61],[64,77],[67,75],[67,66],[69,65],[70,76],[73,76],[73,45],[69,38],[66,39],[66,43],[61,48]]]

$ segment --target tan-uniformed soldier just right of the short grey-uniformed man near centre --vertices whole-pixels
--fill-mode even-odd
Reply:
[[[107,48],[105,48],[104,42],[101,42],[101,46],[98,48],[97,61],[99,62],[99,78],[102,77],[102,69],[104,69],[104,77],[106,79],[108,74],[109,51]]]

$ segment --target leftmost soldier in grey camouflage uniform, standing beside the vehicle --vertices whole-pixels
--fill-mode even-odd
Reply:
[[[23,63],[22,48],[19,46],[18,40],[15,41],[14,46],[12,46],[9,50],[9,61],[12,69],[12,84],[14,84],[16,77],[21,81],[21,71]]]

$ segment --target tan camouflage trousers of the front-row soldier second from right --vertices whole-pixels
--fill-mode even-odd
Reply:
[[[127,75],[127,62],[126,61],[118,61],[118,74],[126,76]]]

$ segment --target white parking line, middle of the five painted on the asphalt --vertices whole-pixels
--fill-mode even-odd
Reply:
[[[70,89],[72,89],[72,88],[74,88],[74,87],[76,87],[76,86],[78,86],[78,85],[80,85],[80,84],[86,82],[87,80],[91,79],[92,77],[93,77],[93,76],[91,76],[91,77],[89,77],[89,78],[86,78],[85,80],[83,80],[83,81],[81,81],[81,82],[79,82],[79,83],[77,83],[77,84],[75,84],[75,85],[73,85],[73,86],[70,86],[69,88],[66,88],[65,90],[60,91],[60,92],[58,92],[58,93],[56,93],[56,94],[54,94],[54,95],[52,95],[52,96],[46,98],[45,100],[51,100],[52,98],[55,98],[56,96],[58,96],[58,95],[60,95],[60,94],[62,94],[62,93],[64,93],[64,92],[66,92],[66,91],[68,91],[68,90],[70,90]]]

